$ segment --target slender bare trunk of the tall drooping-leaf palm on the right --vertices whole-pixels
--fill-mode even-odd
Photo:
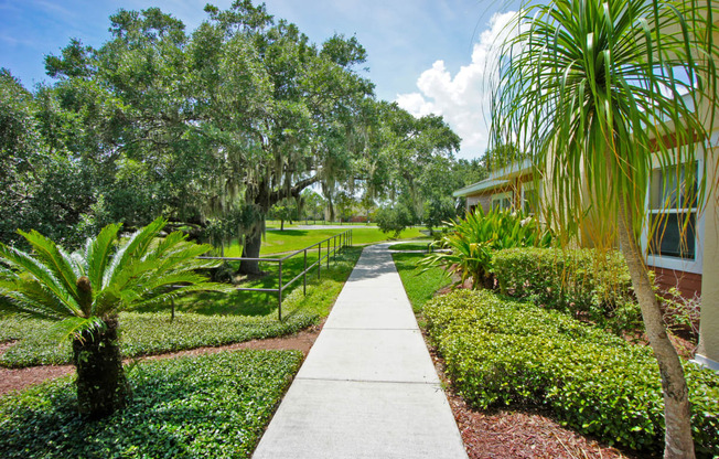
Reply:
[[[691,413],[687,382],[676,349],[669,341],[664,328],[662,311],[656,300],[647,274],[644,257],[636,244],[632,216],[625,204],[620,203],[619,238],[622,254],[626,259],[632,287],[642,309],[642,320],[650,345],[659,364],[662,393],[664,395],[664,435],[665,458],[694,458],[694,439],[691,438]]]

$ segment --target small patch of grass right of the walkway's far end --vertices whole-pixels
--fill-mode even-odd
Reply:
[[[434,297],[437,290],[452,282],[447,271],[440,267],[421,273],[422,268],[417,264],[425,258],[423,254],[398,253],[391,257],[416,313],[422,312],[425,303]]]

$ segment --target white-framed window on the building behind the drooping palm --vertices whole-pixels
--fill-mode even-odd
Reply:
[[[694,161],[652,172],[648,228],[643,237],[652,266],[701,273],[704,217],[697,214],[699,166],[699,161]]]

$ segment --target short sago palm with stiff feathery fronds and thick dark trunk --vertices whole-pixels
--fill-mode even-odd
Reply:
[[[72,340],[83,415],[107,416],[131,394],[120,357],[119,311],[222,288],[194,271],[214,265],[196,258],[212,247],[179,232],[160,238],[164,225],[158,218],[127,238],[119,237],[119,224],[108,225],[72,254],[35,231],[20,232],[32,255],[0,244],[0,310],[54,321],[55,331]]]

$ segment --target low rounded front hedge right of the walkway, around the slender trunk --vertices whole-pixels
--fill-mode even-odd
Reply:
[[[473,405],[548,406],[609,444],[662,447],[662,386],[648,348],[486,290],[438,297],[425,318],[450,377]],[[694,364],[685,370],[697,450],[719,455],[719,376]]]

